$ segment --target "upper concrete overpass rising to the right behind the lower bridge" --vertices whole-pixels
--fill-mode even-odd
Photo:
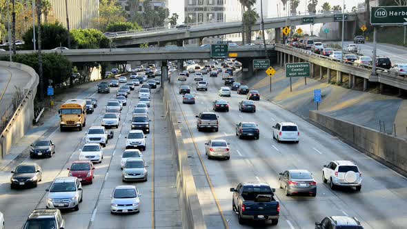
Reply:
[[[340,12],[324,12],[320,14],[298,15],[290,17],[275,17],[264,19],[264,28],[276,28],[276,38],[280,37],[281,29],[285,26],[301,26],[312,23],[328,23],[335,22],[335,15]],[[357,21],[356,13],[347,13],[348,19],[346,21],[346,39],[353,39],[355,26]],[[190,26],[186,28],[158,28],[157,30],[142,30],[142,31],[124,31],[117,32],[115,36],[109,36],[112,44],[116,47],[135,46],[142,43],[160,43],[177,41],[181,46],[182,41],[188,39],[203,39],[203,37],[214,37],[224,34],[233,34],[241,32],[241,21],[235,22],[219,22],[199,24],[197,26]],[[253,31],[261,30],[260,21],[258,20],[254,26]],[[276,42],[278,43],[278,42]]]

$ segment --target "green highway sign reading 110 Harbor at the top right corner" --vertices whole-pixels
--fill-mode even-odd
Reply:
[[[407,6],[377,6],[370,10],[372,25],[403,25],[407,22]]]

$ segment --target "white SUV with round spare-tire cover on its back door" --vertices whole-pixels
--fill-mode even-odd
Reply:
[[[330,188],[333,190],[337,186],[355,187],[357,191],[361,190],[361,172],[352,161],[330,161],[322,169],[322,181],[330,182]]]

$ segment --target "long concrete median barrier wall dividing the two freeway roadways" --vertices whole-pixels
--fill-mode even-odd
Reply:
[[[166,106],[166,119],[172,135],[173,146],[175,147],[174,159],[177,164],[177,194],[183,223],[182,227],[185,229],[205,229],[206,223],[203,219],[197,188],[194,177],[192,177],[192,171],[188,165],[188,152],[186,152],[183,146],[183,137],[177,120],[177,111],[175,110],[177,104],[171,99],[168,88],[170,88],[170,84],[165,82],[161,93],[163,94],[163,103]]]

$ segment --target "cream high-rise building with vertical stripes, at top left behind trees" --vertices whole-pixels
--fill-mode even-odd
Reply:
[[[67,27],[65,0],[50,0],[50,3],[50,15]],[[68,0],[68,15],[71,29],[92,28],[92,22],[99,17],[99,0]]]

